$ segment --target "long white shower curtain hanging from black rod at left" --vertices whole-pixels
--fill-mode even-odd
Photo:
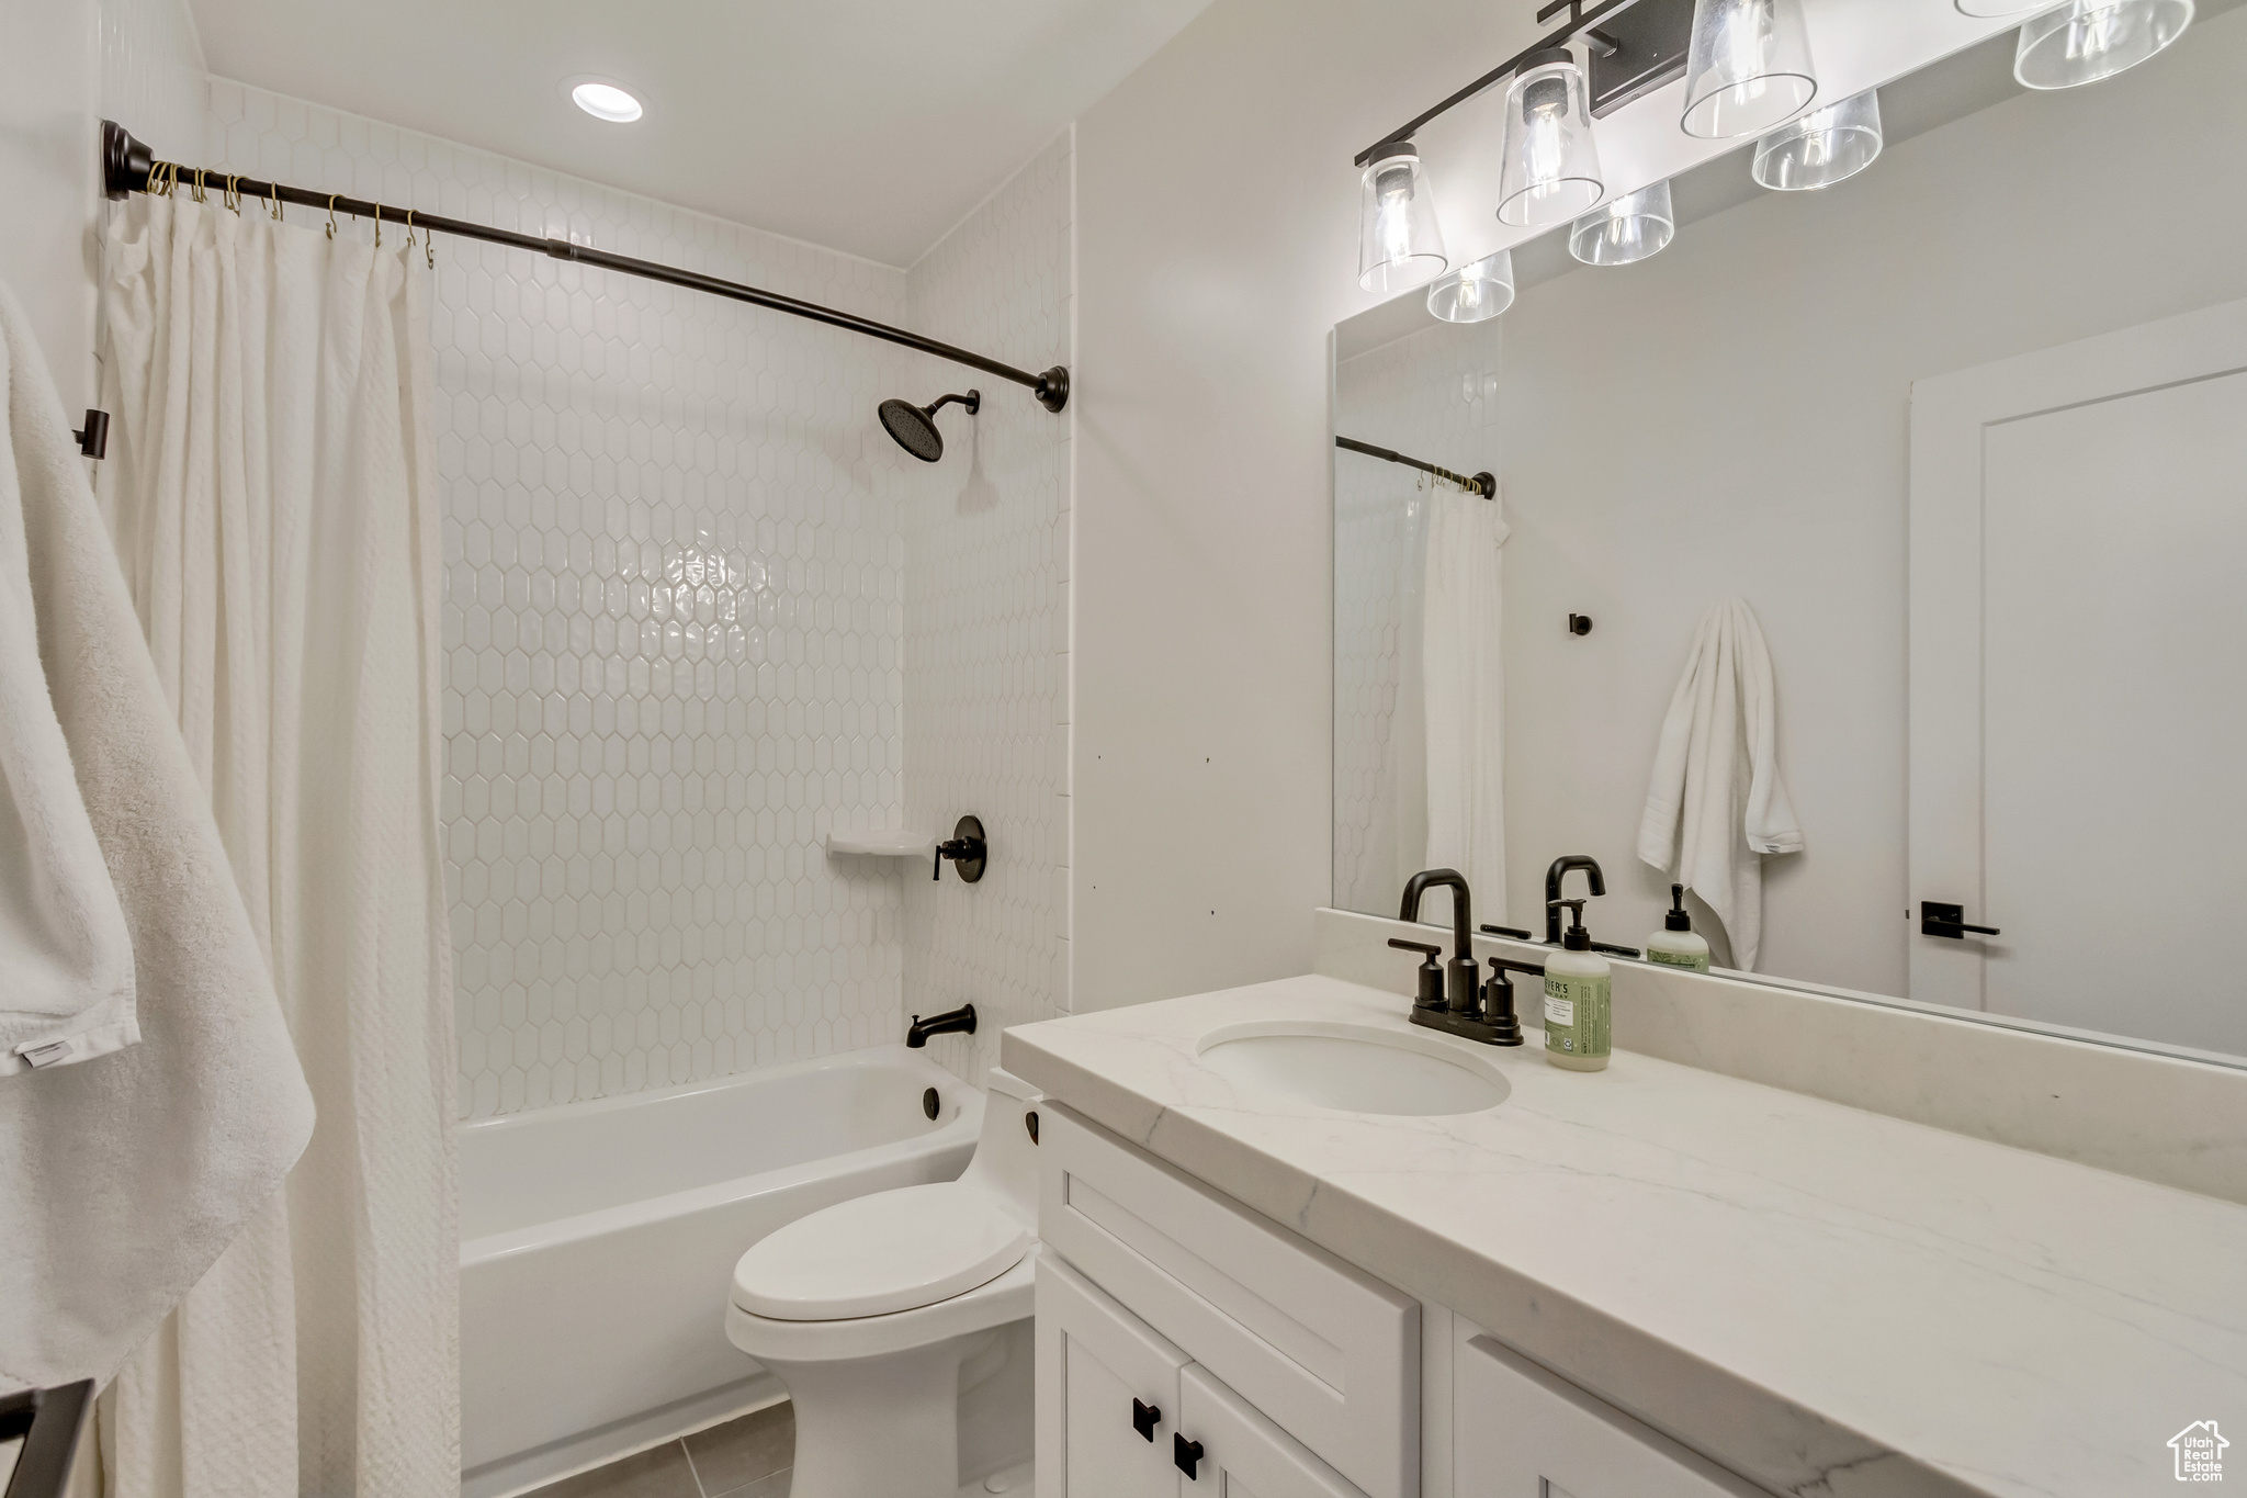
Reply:
[[[391,227],[137,198],[108,508],[319,1121],[101,1404],[117,1498],[456,1491],[429,272]]]

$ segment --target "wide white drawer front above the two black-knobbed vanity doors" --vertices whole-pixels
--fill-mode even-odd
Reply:
[[[1371,1498],[1420,1491],[1420,1303],[1040,1107],[1038,1233]]]

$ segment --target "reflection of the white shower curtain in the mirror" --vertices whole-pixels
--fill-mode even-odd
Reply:
[[[1427,719],[1427,865],[1458,869],[1476,919],[1505,912],[1505,660],[1497,499],[1436,492],[1427,514],[1420,638]],[[1447,914],[1447,912],[1443,912]],[[1429,901],[1429,921],[1443,919]]]

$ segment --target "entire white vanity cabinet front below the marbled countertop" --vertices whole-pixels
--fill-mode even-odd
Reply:
[[[1038,1498],[1762,1491],[1052,1100],[1038,1157]]]

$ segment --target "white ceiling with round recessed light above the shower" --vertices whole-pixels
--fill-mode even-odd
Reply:
[[[211,72],[910,265],[1209,0],[191,0]],[[611,126],[564,79],[647,108]]]

